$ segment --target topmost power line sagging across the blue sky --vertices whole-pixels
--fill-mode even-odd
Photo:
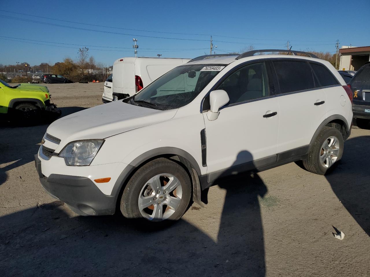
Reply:
[[[15,13],[15,14],[21,14],[24,16],[32,16],[37,18],[46,18],[50,20],[57,20],[67,23],[75,23],[75,24],[83,24],[83,25],[90,25],[95,27],[103,27],[103,28],[113,28],[113,29],[119,29],[119,30],[129,30],[129,31],[140,31],[140,32],[149,32],[149,33],[160,33],[160,34],[175,34],[175,35],[206,35],[209,36],[210,34],[191,34],[191,33],[171,33],[171,32],[163,32],[163,31],[149,31],[149,30],[139,30],[139,29],[130,29],[130,28],[121,28],[121,27],[113,27],[113,26],[105,26],[105,25],[97,25],[97,24],[90,24],[90,23],[81,23],[76,21],[68,21],[68,20],[62,20],[57,18],[50,18],[50,17],[44,17],[44,16],[34,16],[33,14],[26,14],[26,13],[18,13],[15,11],[7,11],[7,10],[0,10],[4,11],[6,13]],[[224,38],[237,38],[241,40],[266,40],[266,41],[286,41],[286,40],[272,40],[272,39],[266,39],[266,38],[242,38],[242,37],[230,37],[226,35],[213,35],[214,37],[224,37]],[[291,41],[301,41],[301,42],[333,42],[334,40],[291,40]]]

